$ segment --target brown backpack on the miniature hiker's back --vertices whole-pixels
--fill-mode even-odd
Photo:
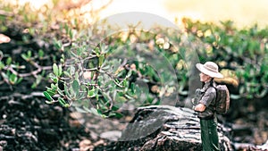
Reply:
[[[230,93],[226,85],[216,85],[216,100],[214,110],[216,113],[227,113],[230,107]]]

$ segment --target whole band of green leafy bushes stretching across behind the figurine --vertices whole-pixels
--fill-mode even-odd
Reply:
[[[88,26],[77,7],[61,10],[59,2],[36,11],[29,4],[1,4],[0,33],[12,38],[0,44],[1,85],[27,81],[44,89],[39,85],[45,83],[47,104],[121,117],[126,105],[187,96],[193,51],[201,63],[214,61],[233,73],[239,91],[232,99],[267,95],[268,29],[183,19],[180,30],[130,26],[106,36],[117,29],[105,21]]]

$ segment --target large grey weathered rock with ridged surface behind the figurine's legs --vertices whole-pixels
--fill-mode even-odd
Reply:
[[[221,150],[233,150],[223,126],[219,124],[218,128]],[[116,144],[116,150],[199,151],[202,150],[199,119],[188,108],[169,105],[141,107]]]

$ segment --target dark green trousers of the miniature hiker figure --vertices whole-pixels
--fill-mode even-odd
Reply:
[[[220,151],[217,132],[217,118],[210,120],[200,119],[201,140],[203,151]]]

